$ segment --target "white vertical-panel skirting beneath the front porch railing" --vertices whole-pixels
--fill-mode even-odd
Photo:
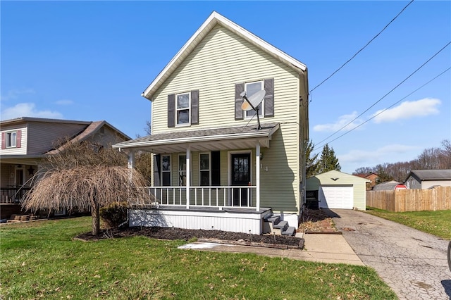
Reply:
[[[263,233],[263,218],[271,215],[271,208],[261,211],[206,209],[129,209],[129,226],[175,227],[194,230],[223,230],[253,235]]]

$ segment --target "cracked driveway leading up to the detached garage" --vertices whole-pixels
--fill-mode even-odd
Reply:
[[[362,211],[332,209],[328,214],[357,256],[399,299],[451,299],[446,240]]]

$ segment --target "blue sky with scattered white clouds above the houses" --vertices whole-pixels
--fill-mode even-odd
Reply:
[[[313,89],[407,4],[1,1],[1,119],[107,120],[130,137],[144,135],[151,104],[141,93],[212,11],[305,63]],[[352,173],[412,160],[451,139],[451,45],[414,73],[450,41],[450,1],[409,5],[311,92],[310,137],[317,151],[328,142],[342,171]]]

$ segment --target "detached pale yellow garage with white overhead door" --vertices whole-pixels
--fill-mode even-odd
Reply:
[[[307,178],[307,207],[364,211],[366,182],[369,180],[336,170]]]

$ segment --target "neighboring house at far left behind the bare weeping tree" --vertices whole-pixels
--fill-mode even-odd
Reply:
[[[17,203],[30,189],[39,162],[55,154],[55,143],[90,141],[103,146],[130,139],[106,121],[89,122],[45,118],[16,118],[0,122],[1,203]],[[63,148],[62,146],[61,148]],[[5,218],[2,213],[1,218]]]

